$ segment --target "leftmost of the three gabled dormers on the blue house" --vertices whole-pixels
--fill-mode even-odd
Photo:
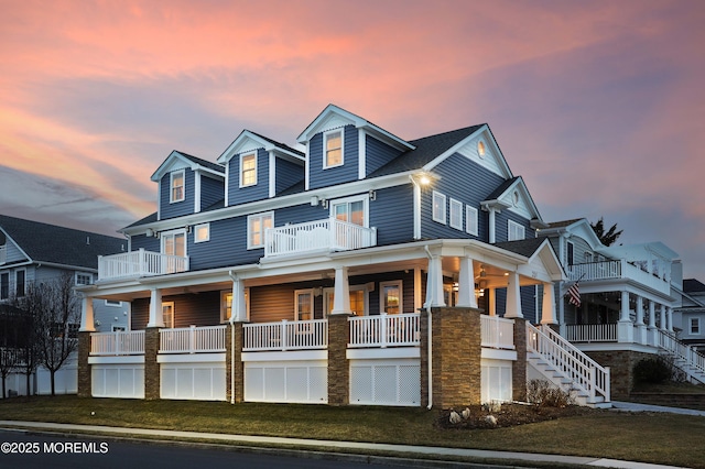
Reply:
[[[223,166],[175,150],[151,179],[159,184],[158,220],[197,214],[225,193]]]

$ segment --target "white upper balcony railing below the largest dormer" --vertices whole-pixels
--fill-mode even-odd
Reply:
[[[348,251],[377,244],[377,229],[335,218],[268,228],[264,257],[297,254],[308,251]]]

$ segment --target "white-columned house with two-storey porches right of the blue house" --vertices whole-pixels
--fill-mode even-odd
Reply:
[[[705,360],[675,338],[683,283],[675,252],[662,242],[606,247],[584,218],[549,223],[539,236],[551,239],[567,274],[555,288],[561,335],[610,367],[612,397],[628,395],[633,366],[658,353],[674,357],[691,380],[704,382]],[[579,302],[572,302],[576,282]]]

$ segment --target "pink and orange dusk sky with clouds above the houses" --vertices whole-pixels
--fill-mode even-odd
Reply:
[[[489,123],[545,221],[605,218],[705,281],[705,1],[0,0],[0,212],[115,234],[172,150],[295,146],[328,103]]]

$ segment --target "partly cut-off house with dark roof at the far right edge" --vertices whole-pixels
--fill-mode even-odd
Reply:
[[[679,338],[698,351],[705,350],[705,284],[684,279],[682,305],[674,310]]]

